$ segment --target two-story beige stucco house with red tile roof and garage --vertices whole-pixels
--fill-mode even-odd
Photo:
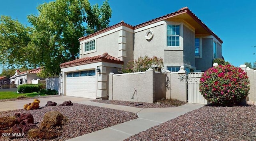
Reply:
[[[187,7],[136,26],[121,21],[79,41],[80,59],[60,65],[61,94],[67,96],[106,99],[108,73],[140,56],[161,57],[164,70],[172,72],[181,66],[206,71],[213,59],[222,58],[223,41]]]

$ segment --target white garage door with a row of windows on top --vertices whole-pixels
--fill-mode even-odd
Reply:
[[[96,99],[95,70],[67,73],[66,95]]]

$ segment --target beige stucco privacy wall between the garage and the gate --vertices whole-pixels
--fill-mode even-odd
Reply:
[[[110,73],[108,84],[109,100],[153,103],[156,98],[165,98],[165,75],[152,69],[146,72],[127,74]],[[131,99],[133,94],[134,99]]]

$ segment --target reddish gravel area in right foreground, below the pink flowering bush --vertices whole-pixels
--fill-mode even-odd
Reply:
[[[256,106],[204,106],[125,141],[255,141]]]

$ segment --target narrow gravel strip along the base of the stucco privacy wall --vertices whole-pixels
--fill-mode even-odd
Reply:
[[[170,103],[160,102],[160,105],[155,103],[146,103],[146,102],[129,102],[129,101],[119,101],[119,100],[91,100],[92,102],[100,102],[106,104],[115,104],[115,105],[123,105],[123,106],[131,106],[136,108],[168,108],[168,107],[177,107],[177,105],[173,105]],[[186,102],[179,102],[179,105],[186,104]]]

